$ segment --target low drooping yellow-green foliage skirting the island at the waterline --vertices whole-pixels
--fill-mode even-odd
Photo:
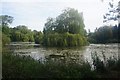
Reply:
[[[59,47],[72,47],[83,46],[87,44],[85,37],[80,34],[48,34],[44,35],[43,43],[45,46],[59,46]]]

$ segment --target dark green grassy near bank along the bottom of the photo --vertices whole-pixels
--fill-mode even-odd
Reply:
[[[6,78],[119,78],[120,59],[109,59],[106,64],[94,58],[94,70],[88,62],[82,64],[63,61],[35,61],[31,57],[3,53],[2,76]]]

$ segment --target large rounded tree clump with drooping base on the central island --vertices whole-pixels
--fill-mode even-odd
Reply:
[[[87,43],[82,13],[73,8],[63,10],[55,19],[48,18],[43,30],[45,46],[72,47]]]

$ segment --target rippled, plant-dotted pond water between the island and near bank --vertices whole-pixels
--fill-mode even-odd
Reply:
[[[36,44],[35,44],[36,45]],[[14,45],[12,45],[14,47]],[[82,62],[92,62],[92,56],[97,55],[101,60],[106,58],[118,58],[118,44],[90,44],[81,48],[45,48],[45,47],[29,47],[29,48],[11,48],[15,54],[21,56],[30,56],[35,60],[65,60]]]

